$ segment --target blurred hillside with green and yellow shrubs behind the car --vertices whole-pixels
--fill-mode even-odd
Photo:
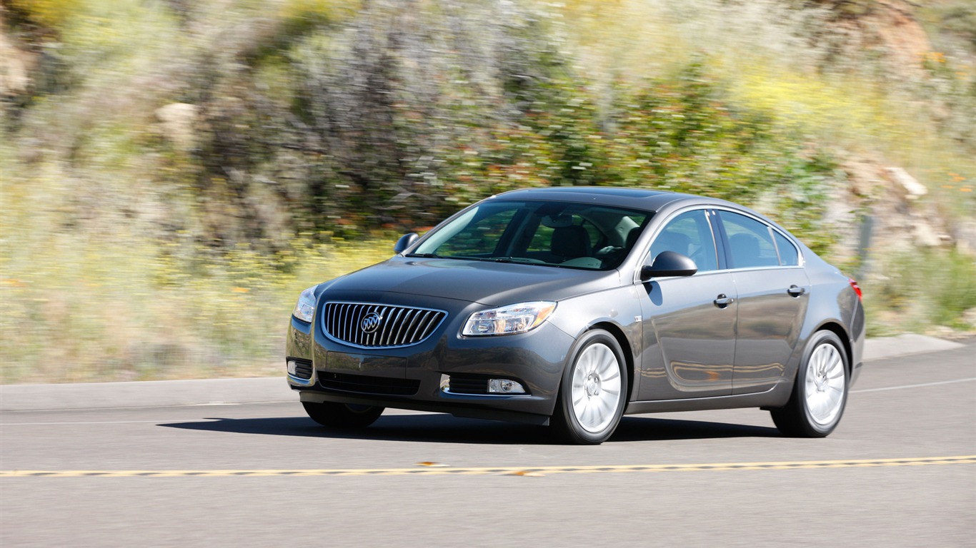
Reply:
[[[872,333],[976,321],[971,2],[0,6],[4,383],[276,374],[301,290],[525,186],[743,202]]]

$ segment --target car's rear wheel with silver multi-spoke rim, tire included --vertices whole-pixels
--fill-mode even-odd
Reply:
[[[793,438],[823,438],[840,422],[850,384],[847,353],[832,332],[817,332],[803,351],[793,395],[783,408],[769,410],[780,432]]]

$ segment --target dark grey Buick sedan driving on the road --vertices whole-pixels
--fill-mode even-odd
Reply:
[[[862,365],[857,283],[719,199],[514,190],[393,251],[293,311],[288,383],[324,426],[440,411],[600,444],[624,414],[759,408],[824,437]]]

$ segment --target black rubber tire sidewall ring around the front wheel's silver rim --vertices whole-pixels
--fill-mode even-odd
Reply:
[[[576,362],[580,358],[580,355],[596,343],[601,343],[610,348],[617,358],[617,368],[621,376],[621,397],[617,403],[616,416],[610,421],[610,424],[599,432],[590,432],[580,424],[580,421],[576,418],[576,413],[573,411],[573,370],[576,367]],[[624,351],[621,349],[620,342],[612,334],[603,330],[592,330],[584,333],[580,337],[573,352],[570,354],[570,358],[566,361],[565,368],[563,368],[562,381],[559,385],[559,398],[556,402],[557,421],[570,441],[577,444],[595,445],[605,442],[613,435],[617,426],[620,424],[621,416],[624,414],[624,409],[627,407],[629,399],[627,369]]]

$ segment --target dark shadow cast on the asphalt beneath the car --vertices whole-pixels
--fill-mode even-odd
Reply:
[[[305,416],[267,418],[207,418],[204,421],[159,424],[209,432],[299,436],[346,440],[385,440],[442,444],[561,445],[551,428],[458,418],[449,414],[391,414],[372,426],[343,430],[319,426]],[[608,443],[719,438],[780,437],[776,428],[700,420],[626,416]]]

